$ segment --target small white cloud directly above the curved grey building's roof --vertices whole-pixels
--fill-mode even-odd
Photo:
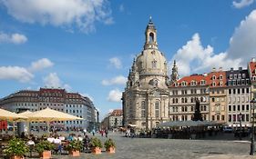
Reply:
[[[65,88],[67,89],[67,91],[71,90],[71,87],[68,84],[63,84],[63,82],[59,79],[56,73],[50,73],[49,75],[44,77],[43,82],[46,87]]]

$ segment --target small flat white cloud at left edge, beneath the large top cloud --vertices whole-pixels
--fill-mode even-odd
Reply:
[[[7,35],[5,33],[0,33],[0,43],[13,43],[15,45],[20,45],[26,43],[26,35],[12,34]]]

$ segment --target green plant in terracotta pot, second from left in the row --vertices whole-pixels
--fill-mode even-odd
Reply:
[[[48,141],[41,141],[36,144],[36,152],[43,157],[43,159],[51,158],[51,150],[54,149],[54,144],[51,144]]]

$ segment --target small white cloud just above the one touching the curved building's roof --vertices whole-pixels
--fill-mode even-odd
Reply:
[[[39,71],[39,70],[45,69],[47,67],[51,67],[53,65],[54,64],[49,59],[42,58],[42,59],[37,60],[36,62],[32,62],[29,70],[32,72]]]

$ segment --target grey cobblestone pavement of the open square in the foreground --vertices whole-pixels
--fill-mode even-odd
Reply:
[[[97,135],[102,142],[106,137]],[[250,156],[250,142],[238,140],[181,140],[158,138],[127,138],[119,134],[110,134],[117,143],[116,154],[81,154],[80,157],[54,155],[54,158],[87,159],[256,159]],[[105,151],[103,149],[103,151]]]

